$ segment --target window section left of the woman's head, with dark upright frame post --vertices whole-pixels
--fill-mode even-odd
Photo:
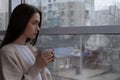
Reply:
[[[3,0],[0,1],[0,40],[2,40],[8,25],[9,15],[13,8],[20,4],[21,0]]]

